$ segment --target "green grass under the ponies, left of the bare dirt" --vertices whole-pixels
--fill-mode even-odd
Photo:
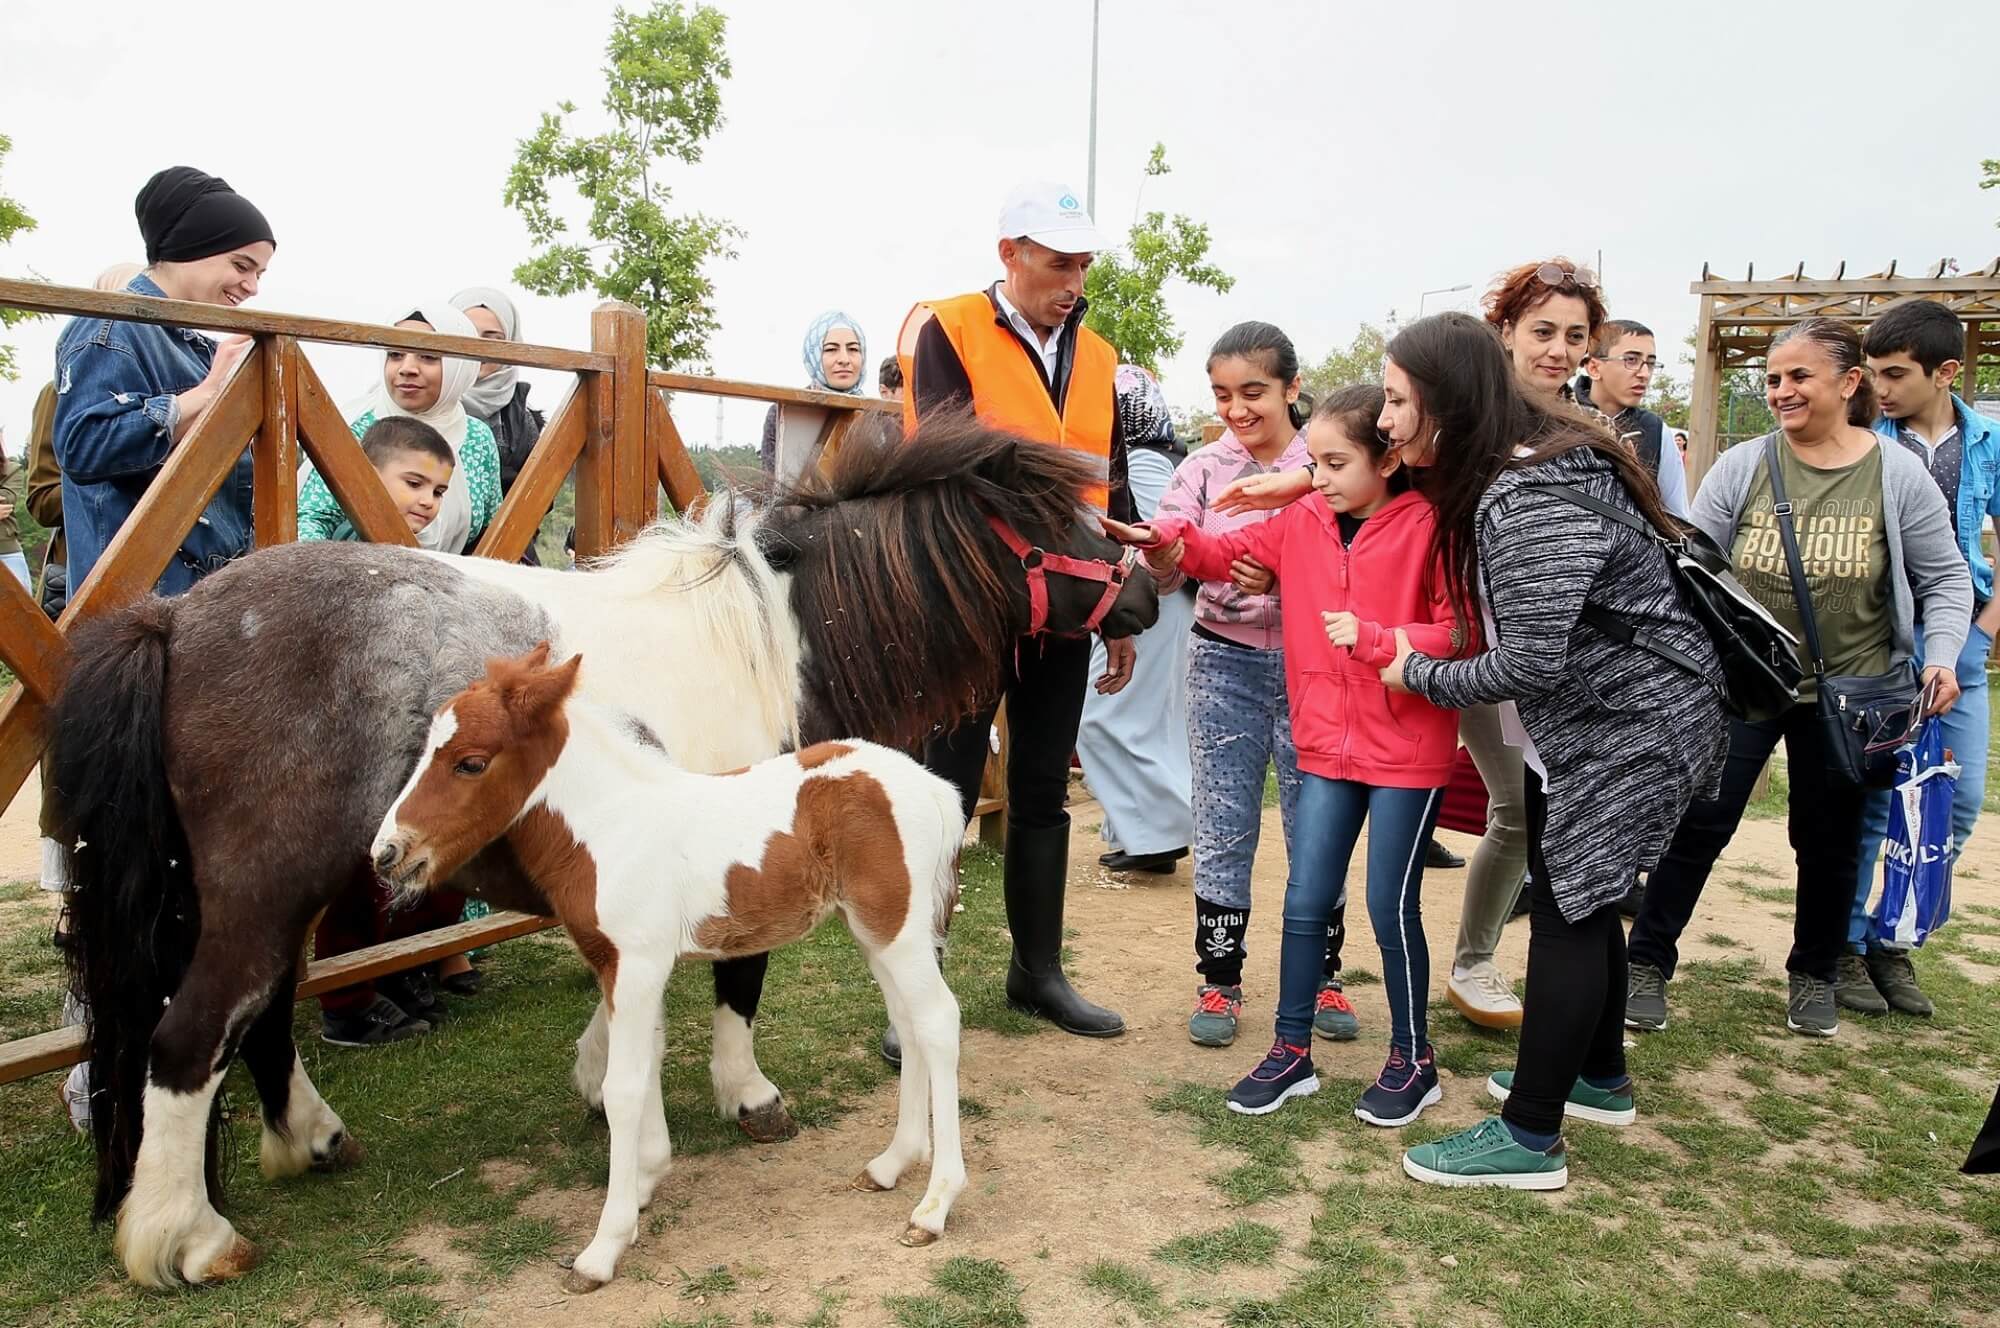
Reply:
[[[966,912],[952,926],[948,980],[968,1026],[1028,1034],[1038,1024],[1008,1010],[1002,990],[1008,940],[998,858],[968,850],[964,866]],[[58,982],[40,926],[0,936],[0,1026],[8,1036],[56,1024]],[[472,1256],[466,1276],[474,1286],[542,1270],[554,1292],[554,1260],[564,1252],[558,1232],[522,1214],[520,1204],[536,1190],[604,1182],[604,1126],[570,1088],[572,1044],[596,1004],[596,986],[568,942],[550,934],[496,946],[486,990],[452,1004],[454,1018],[442,1030],[366,1052],[324,1046],[318,1006],[300,1006],[300,1056],[368,1146],[368,1160],[346,1174],[266,1182],[256,1166],[256,1094],[240,1066],[230,1072],[230,1218],[264,1248],[264,1264],[256,1276],[204,1292],[138,1294],[124,1284],[108,1228],[88,1220],[90,1146],[58,1116],[56,1080],[0,1086],[0,1324],[178,1328],[370,1314],[436,1324],[444,1316],[430,1290],[438,1274],[402,1250],[404,1238],[424,1228],[442,1230]],[[678,1158],[748,1146],[714,1112],[712,1004],[708,966],[682,966],[668,990],[664,1070]],[[880,1028],[880,994],[838,922],[772,956],[758,1036],[766,1048],[784,1048],[772,1070],[802,1124],[832,1124],[888,1082],[892,1072],[874,1054]],[[488,1160],[510,1164],[506,1180],[482,1172]],[[648,1250],[642,1234],[632,1258],[642,1262],[658,1248]],[[702,1272],[696,1284],[716,1278]],[[836,1302],[826,1302],[826,1314],[824,1322],[838,1322]]]

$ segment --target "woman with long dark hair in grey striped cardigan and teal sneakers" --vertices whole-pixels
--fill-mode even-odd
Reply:
[[[1466,314],[1412,324],[1388,346],[1382,428],[1432,470],[1434,556],[1454,616],[1484,650],[1444,660],[1398,640],[1382,680],[1438,706],[1500,708],[1526,758],[1532,880],[1528,998],[1514,1072],[1488,1080],[1498,1118],[1404,1154],[1424,1182],[1554,1190],[1568,1182],[1562,1118],[1634,1118],[1624,1064],[1626,952],[1618,900],[1666,850],[1688,802],[1714,792],[1722,702],[1700,678],[1592,626],[1612,612],[1706,666],[1714,646],[1660,548],[1550,486],[1672,518],[1638,458],[1582,414],[1522,390],[1494,330]]]

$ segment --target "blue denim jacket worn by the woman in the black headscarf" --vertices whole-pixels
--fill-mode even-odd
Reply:
[[[126,286],[164,296],[150,276]],[[62,528],[68,584],[78,588],[132,516],[174,448],[174,398],[202,378],[216,344],[188,328],[116,318],[72,318],[56,342],[56,464],[62,466]],[[222,482],[208,510],[174,550],[158,594],[180,594],[230,558],[250,550],[250,450]]]

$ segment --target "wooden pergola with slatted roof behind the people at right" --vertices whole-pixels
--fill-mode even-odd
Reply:
[[[1790,276],[1762,282],[1756,268],[1730,282],[1710,276],[1708,264],[1702,264],[1702,280],[1688,290],[1702,298],[1688,404],[1690,492],[1716,460],[1716,404],[1724,374],[1762,364],[1772,338],[1796,322],[1824,316],[1866,328],[1882,310],[1904,300],[1936,300],[1966,324],[1962,384],[1978,382],[1982,362],[2000,362],[2000,258],[1972,274],[1940,260],[1924,276],[1896,276],[1892,262],[1888,272],[1862,278],[1848,278],[1846,264],[1830,278],[1806,276],[1806,264],[1798,264]],[[1962,386],[1960,396],[1970,400],[1972,392]]]

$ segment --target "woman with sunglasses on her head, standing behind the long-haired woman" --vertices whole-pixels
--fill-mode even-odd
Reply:
[[[1568,258],[1528,262],[1504,272],[1482,300],[1486,324],[1500,334],[1514,382],[1544,412],[1588,416],[1574,406],[1570,380],[1590,352],[1604,324],[1598,278]],[[1404,458],[1416,468],[1416,484],[1428,492],[1424,460]],[[1250,476],[1216,498],[1218,512],[1284,506],[1312,488],[1304,470]],[[1458,914],[1458,944],[1444,994],[1462,1016],[1482,1028],[1520,1028],[1522,1006],[1514,984],[1494,964],[1500,930],[1520,898],[1528,870],[1528,802],[1522,784],[1520,750],[1508,746],[1494,706],[1472,706],[1458,716],[1458,740],[1472,754],[1486,784],[1486,834],[1466,872],[1466,894]]]

